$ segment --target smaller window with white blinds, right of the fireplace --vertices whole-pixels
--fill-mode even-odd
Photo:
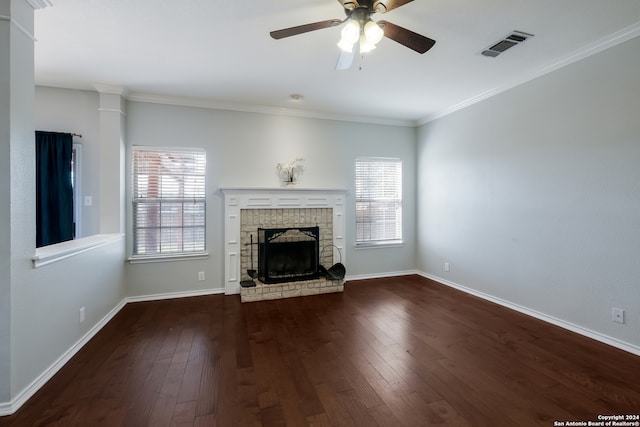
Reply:
[[[402,162],[356,159],[356,245],[402,242]]]

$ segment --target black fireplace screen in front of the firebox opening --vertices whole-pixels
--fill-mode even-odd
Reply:
[[[319,236],[318,227],[259,228],[258,279],[262,283],[317,279]]]

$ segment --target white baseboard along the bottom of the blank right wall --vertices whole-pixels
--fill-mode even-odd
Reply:
[[[640,347],[638,347],[637,345],[634,345],[634,344],[631,344],[631,343],[628,343],[628,342],[625,342],[625,341],[621,341],[621,340],[619,340],[617,338],[610,337],[610,336],[602,334],[600,332],[592,331],[591,329],[587,329],[587,328],[582,327],[580,325],[576,325],[574,323],[567,322],[566,320],[558,319],[557,317],[550,316],[548,314],[545,314],[545,313],[530,309],[528,307],[524,307],[524,306],[521,306],[521,305],[518,305],[518,304],[514,304],[514,303],[512,303],[510,301],[507,301],[507,300],[504,300],[502,298],[497,298],[497,297],[494,297],[492,295],[485,294],[484,292],[480,292],[480,291],[477,291],[475,289],[471,289],[471,288],[468,288],[466,286],[459,285],[457,283],[451,282],[449,280],[443,279],[443,278],[438,277],[438,276],[434,276],[432,274],[427,274],[427,273],[424,273],[424,272],[418,272],[417,274],[419,274],[420,276],[425,277],[427,279],[431,279],[433,281],[441,283],[441,284],[443,284],[445,286],[449,286],[451,288],[458,289],[458,290],[460,290],[462,292],[465,292],[467,294],[477,296],[477,297],[482,298],[482,299],[487,300],[487,301],[491,301],[491,302],[496,303],[498,305],[501,305],[503,307],[510,308],[511,310],[515,310],[515,311],[518,311],[520,313],[526,314],[527,316],[535,317],[536,319],[542,320],[542,321],[547,322],[547,323],[551,323],[552,325],[559,326],[559,327],[561,327],[563,329],[567,329],[567,330],[569,330],[571,332],[575,332],[575,333],[577,333],[579,335],[583,335],[585,337],[594,339],[596,341],[600,341],[602,343],[608,344],[608,345],[610,345],[612,347],[619,348],[620,350],[624,350],[624,351],[627,351],[629,353],[635,354],[636,356],[640,356]]]

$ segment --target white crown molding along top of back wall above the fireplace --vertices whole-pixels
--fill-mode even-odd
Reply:
[[[328,113],[322,111],[298,110],[292,108],[280,108],[267,105],[251,105],[231,102],[221,102],[209,99],[197,99],[188,97],[175,97],[155,95],[142,92],[130,92],[126,96],[128,101],[146,102],[150,104],[176,105],[181,107],[208,108],[213,110],[239,111],[245,113],[272,114],[281,116],[304,117],[323,120],[337,120],[342,122],[370,123],[387,126],[415,127],[414,120],[387,119],[381,117],[344,115],[340,113]]]

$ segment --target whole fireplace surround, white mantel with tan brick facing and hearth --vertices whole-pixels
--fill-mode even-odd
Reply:
[[[225,196],[225,293],[240,294],[242,302],[342,292],[344,281],[324,278],[241,288],[248,280],[253,250],[257,269],[257,229],[320,228],[320,264],[345,263],[344,200],[346,190],[297,188],[223,188]],[[250,244],[253,235],[254,246]]]

